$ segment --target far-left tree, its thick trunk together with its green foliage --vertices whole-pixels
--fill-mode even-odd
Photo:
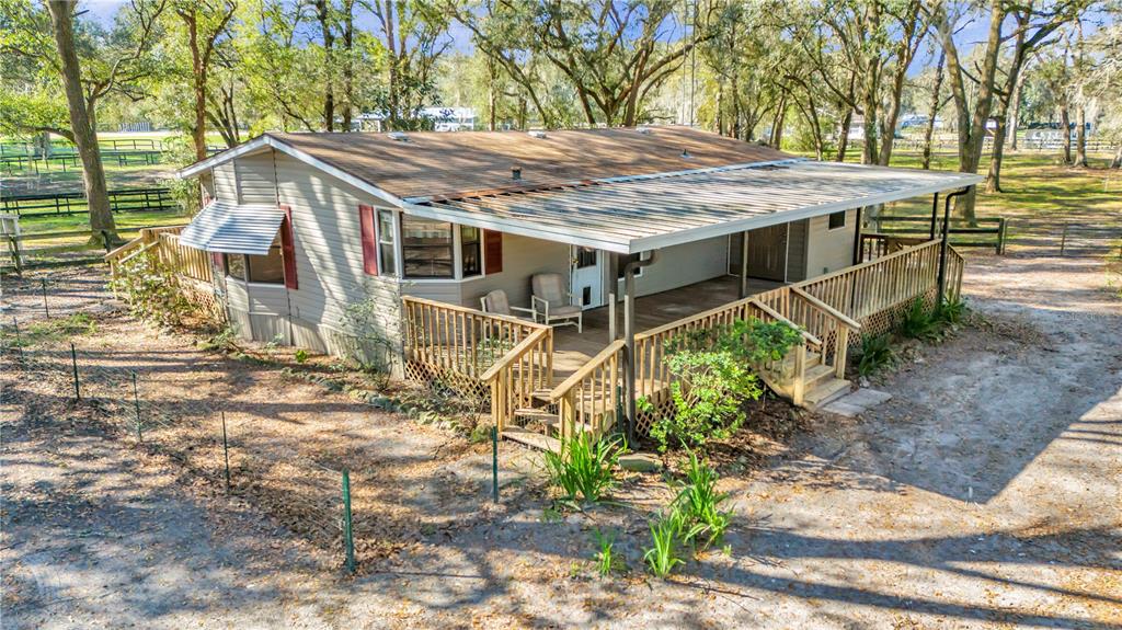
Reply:
[[[105,34],[75,21],[74,2],[52,0],[46,11],[26,0],[0,3],[0,52],[35,76],[27,90],[0,96],[0,127],[17,132],[52,132],[74,142],[90,210],[90,242],[119,241],[109,206],[98,147],[98,105],[110,95],[139,99],[139,82],[151,71],[149,52],[163,0],[134,0]],[[61,94],[59,94],[61,92]],[[57,98],[65,100],[65,108]]]

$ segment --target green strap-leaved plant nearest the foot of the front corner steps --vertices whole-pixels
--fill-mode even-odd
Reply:
[[[568,502],[595,503],[616,484],[613,469],[619,458],[619,439],[594,439],[581,432],[561,442],[559,452],[545,452],[550,485]]]

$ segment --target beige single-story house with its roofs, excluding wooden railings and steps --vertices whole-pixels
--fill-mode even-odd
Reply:
[[[349,309],[366,304],[367,325],[408,354],[403,305],[475,317],[500,289],[530,308],[533,278],[554,275],[587,314],[563,332],[574,367],[619,339],[620,298],[633,342],[636,326],[840,274],[864,258],[863,207],[980,180],[684,127],[266,133],[178,176],[204,197],[180,243],[211,252],[215,295],[246,337],[339,353]]]

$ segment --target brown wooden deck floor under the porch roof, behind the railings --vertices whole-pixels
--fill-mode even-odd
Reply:
[[[748,279],[748,294],[755,295],[782,286],[772,280]],[[649,295],[636,299],[635,332],[677,322],[696,313],[716,308],[739,298],[741,279],[721,276],[693,285]],[[619,303],[619,334],[623,334],[623,303]],[[585,332],[578,334],[576,326],[553,328],[553,382],[561,382],[589,362],[608,339],[608,307],[590,308],[585,312]]]

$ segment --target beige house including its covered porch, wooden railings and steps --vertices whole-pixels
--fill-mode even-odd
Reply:
[[[205,207],[162,238],[210,252],[208,286],[239,334],[343,353],[374,332],[407,376],[489,397],[500,428],[535,399],[607,425],[619,388],[635,423],[635,398],[657,402],[672,379],[668,335],[745,316],[803,330],[775,388],[821,402],[847,385],[850,333],[934,304],[962,272],[934,228],[925,243],[862,234],[862,209],[921,195],[938,207],[981,179],[683,127],[266,133],[178,175],[199,178]],[[528,307],[542,274],[564,278],[581,330],[480,309],[496,289]],[[356,304],[373,314],[362,335],[348,328]],[[485,340],[502,343],[481,360]]]

